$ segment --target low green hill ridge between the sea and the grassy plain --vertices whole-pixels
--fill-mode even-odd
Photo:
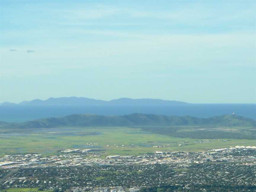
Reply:
[[[223,115],[211,118],[196,118],[191,116],[164,116],[133,113],[123,116],[101,116],[92,114],[68,115],[60,118],[46,118],[23,123],[5,122],[0,128],[29,129],[51,128],[61,126],[241,126],[255,127],[256,121],[237,115]]]

